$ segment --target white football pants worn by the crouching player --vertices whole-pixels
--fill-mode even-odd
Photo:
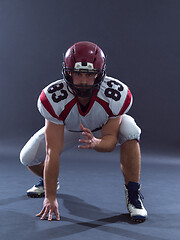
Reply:
[[[20,161],[25,166],[40,164],[45,160],[46,143],[44,135],[45,127],[37,131],[25,144],[20,152]],[[117,145],[122,145],[127,140],[137,139],[139,141],[141,129],[137,126],[134,119],[124,114],[119,128],[119,141]],[[95,137],[101,137],[101,130],[93,132]],[[64,129],[64,148],[66,151],[79,145],[78,140],[82,138],[81,132],[69,132]]]

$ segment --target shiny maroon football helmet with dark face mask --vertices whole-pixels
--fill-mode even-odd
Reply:
[[[96,73],[93,86],[73,84],[72,72]],[[90,97],[100,87],[105,76],[105,56],[94,43],[82,41],[72,45],[64,56],[63,77],[73,94],[78,97]],[[96,91],[95,91],[96,90]]]

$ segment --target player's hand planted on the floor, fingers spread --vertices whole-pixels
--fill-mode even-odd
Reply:
[[[57,199],[51,201],[48,198],[44,199],[43,209],[36,217],[41,217],[41,220],[44,220],[48,216],[48,221],[51,221],[53,214],[56,216],[56,220],[60,220],[59,211],[58,211],[58,202]]]

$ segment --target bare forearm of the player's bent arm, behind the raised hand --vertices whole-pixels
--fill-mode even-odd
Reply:
[[[112,135],[107,135],[102,138],[96,138],[94,150],[97,152],[112,152],[116,147],[117,139]]]

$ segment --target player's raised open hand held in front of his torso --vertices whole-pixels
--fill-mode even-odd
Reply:
[[[95,138],[90,129],[85,128],[82,124],[80,124],[80,128],[82,131],[82,135],[85,137],[84,139],[79,139],[80,143],[83,145],[79,145],[78,148],[87,149],[87,148],[95,148],[97,143],[97,138]]]

